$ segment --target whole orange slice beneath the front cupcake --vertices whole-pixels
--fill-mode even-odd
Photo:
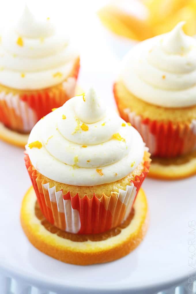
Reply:
[[[142,189],[128,219],[119,227],[97,235],[66,233],[42,215],[33,187],[21,207],[21,225],[29,241],[43,253],[66,263],[89,265],[121,258],[143,240],[148,227],[148,204]]]

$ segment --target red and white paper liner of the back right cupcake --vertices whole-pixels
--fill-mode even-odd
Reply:
[[[126,108],[128,121],[141,134],[153,156],[175,157],[196,148],[196,120],[191,123],[168,123],[143,119]]]

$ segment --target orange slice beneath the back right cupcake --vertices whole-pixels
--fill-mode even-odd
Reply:
[[[151,178],[177,180],[196,174],[196,151],[178,158],[154,158],[148,176]]]

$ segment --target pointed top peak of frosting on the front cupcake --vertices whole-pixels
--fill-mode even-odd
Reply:
[[[78,118],[85,123],[96,123],[105,116],[103,103],[98,99],[93,88],[90,88],[76,105],[76,113]]]

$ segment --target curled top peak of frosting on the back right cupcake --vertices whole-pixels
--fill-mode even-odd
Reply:
[[[163,49],[171,54],[185,54],[190,51],[190,44],[187,35],[182,30],[185,21],[179,22],[175,28],[166,34],[163,40]]]

